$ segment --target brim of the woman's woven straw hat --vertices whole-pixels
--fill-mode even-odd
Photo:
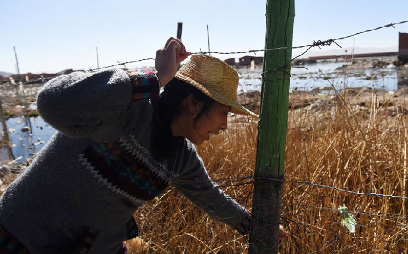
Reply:
[[[177,73],[175,76],[176,79],[182,80],[187,82],[188,84],[197,87],[199,90],[201,90],[205,95],[207,95],[208,97],[210,97],[211,99],[225,104],[227,106],[231,107],[231,113],[235,113],[235,114],[244,114],[247,116],[252,116],[252,117],[259,117],[257,114],[255,114],[254,112],[250,111],[249,109],[244,108],[241,104],[239,104],[237,101],[231,100],[230,98],[223,96],[222,94],[218,93],[218,91],[208,88],[208,87],[204,87],[203,85],[201,85],[200,83],[198,83],[197,81],[183,75],[180,73]]]

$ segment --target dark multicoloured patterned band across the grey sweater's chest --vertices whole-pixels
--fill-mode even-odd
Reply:
[[[83,155],[102,178],[136,198],[152,200],[168,185],[118,142],[94,143]]]

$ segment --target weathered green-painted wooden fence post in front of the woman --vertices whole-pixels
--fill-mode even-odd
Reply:
[[[292,47],[294,8],[294,0],[267,0],[265,49]],[[284,178],[291,55],[291,49],[264,55],[250,254],[278,253],[283,183],[260,178]]]

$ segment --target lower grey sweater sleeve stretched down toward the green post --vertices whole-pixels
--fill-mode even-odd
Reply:
[[[190,155],[189,166],[186,164],[187,167],[177,174],[171,184],[212,219],[246,235],[250,230],[250,213],[211,180],[194,146]]]

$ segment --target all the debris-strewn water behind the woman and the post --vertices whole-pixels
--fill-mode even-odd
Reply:
[[[395,68],[386,67],[381,69],[362,68],[357,70],[338,70],[344,62],[317,63],[308,64],[302,67],[292,68],[290,89],[310,91],[316,88],[330,87],[332,83],[337,88],[363,87],[368,86],[376,89],[396,90],[398,81],[398,71]],[[296,66],[295,66],[296,67]],[[321,70],[321,73],[319,72]],[[248,90],[261,90],[262,68],[255,68],[250,71],[249,68],[238,69],[240,82],[238,93]],[[323,73],[323,74],[322,74]],[[377,77],[376,80],[368,80],[371,77]],[[326,78],[325,78],[326,77]],[[322,91],[319,91],[322,93]],[[324,93],[324,91],[323,91]],[[30,108],[36,108],[30,105]],[[10,141],[12,144],[12,154],[17,163],[25,161],[38,152],[47,143],[55,129],[49,126],[41,118],[10,118],[7,120],[7,126],[12,129]],[[24,132],[21,129],[25,126],[31,128]],[[7,160],[7,149],[0,148],[0,161]]]

